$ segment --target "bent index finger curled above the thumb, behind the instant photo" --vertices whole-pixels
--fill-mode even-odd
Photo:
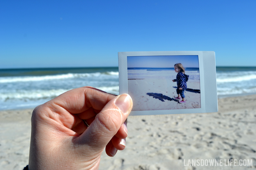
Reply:
[[[113,94],[92,87],[81,87],[46,102],[44,107],[50,109],[50,112],[46,112],[47,117],[72,129],[81,122],[79,117],[83,115],[88,118],[96,115],[98,110],[101,110],[114,97]]]

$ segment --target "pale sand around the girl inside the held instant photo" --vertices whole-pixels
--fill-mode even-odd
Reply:
[[[187,87],[200,90],[200,83],[188,81]],[[177,83],[166,79],[132,79],[128,80],[128,92],[133,100],[133,111],[137,110],[168,110],[184,108],[201,108],[200,93],[185,91],[186,103],[179,103],[174,97]],[[147,93],[158,93],[170,97],[170,100],[161,101],[149,96]]]

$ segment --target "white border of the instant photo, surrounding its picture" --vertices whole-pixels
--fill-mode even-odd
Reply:
[[[131,111],[130,115],[167,115],[218,111],[214,51],[139,51],[118,52],[119,94],[128,93],[127,56],[198,55],[201,108]]]

